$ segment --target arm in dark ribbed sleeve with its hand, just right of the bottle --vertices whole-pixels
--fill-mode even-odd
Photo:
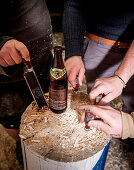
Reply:
[[[85,73],[82,61],[85,18],[82,5],[78,0],[65,0],[63,33],[66,47],[65,66],[68,73],[68,80],[72,86],[75,86],[75,79],[78,75],[79,84],[81,85]]]

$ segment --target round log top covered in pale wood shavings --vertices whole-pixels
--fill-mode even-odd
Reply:
[[[45,95],[49,100],[48,94]],[[21,119],[20,137],[25,149],[58,162],[76,162],[101,151],[109,142],[109,136],[92,128],[85,131],[80,123],[81,112],[76,108],[90,104],[88,94],[69,91],[68,107],[62,114],[48,108],[38,110],[33,102]]]

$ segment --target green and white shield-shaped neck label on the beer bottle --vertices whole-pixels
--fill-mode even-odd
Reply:
[[[58,68],[51,68],[50,74],[52,77],[54,77],[56,80],[60,79],[64,74],[66,73],[66,69],[58,69]]]

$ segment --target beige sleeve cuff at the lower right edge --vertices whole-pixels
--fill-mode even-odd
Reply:
[[[122,112],[122,139],[134,138],[134,112],[127,114]]]

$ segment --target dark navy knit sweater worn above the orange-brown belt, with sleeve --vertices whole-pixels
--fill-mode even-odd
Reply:
[[[124,3],[124,4],[123,4]],[[114,1],[65,0],[63,32],[66,59],[83,56],[85,32],[111,40],[131,42],[134,38],[134,7]]]

